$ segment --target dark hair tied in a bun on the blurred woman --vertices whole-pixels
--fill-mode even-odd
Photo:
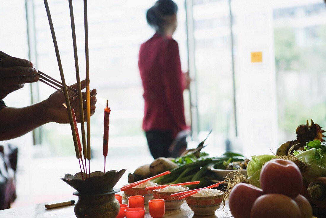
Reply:
[[[172,0],[158,0],[155,5],[147,10],[146,20],[156,32],[162,31],[166,23],[165,16],[170,16],[178,12],[178,6]]]

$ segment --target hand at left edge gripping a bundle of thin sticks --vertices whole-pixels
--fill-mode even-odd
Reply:
[[[30,61],[11,57],[0,60],[0,99],[21,89],[25,83],[38,80],[37,70]]]

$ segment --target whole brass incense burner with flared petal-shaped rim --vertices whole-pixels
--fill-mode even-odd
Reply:
[[[120,189],[113,187],[125,172],[125,169],[106,173],[96,171],[87,175],[87,178],[83,173],[84,180],[82,173],[77,173],[75,176],[66,174],[65,178],[61,178],[77,190],[73,193],[78,196],[74,209],[76,217],[115,218],[119,213],[120,204],[115,199],[114,193],[120,192]]]

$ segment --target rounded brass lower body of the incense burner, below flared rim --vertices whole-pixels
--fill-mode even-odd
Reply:
[[[74,209],[76,217],[115,218],[119,213],[120,204],[114,193],[119,191],[119,189],[114,189],[112,192],[104,194],[80,194],[74,192],[74,195],[78,196],[78,202]]]

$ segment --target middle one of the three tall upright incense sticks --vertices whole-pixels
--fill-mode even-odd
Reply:
[[[83,106],[83,99],[82,99],[82,86],[81,80],[79,75],[79,65],[78,65],[78,53],[77,53],[77,42],[76,42],[76,30],[75,30],[75,21],[74,21],[74,10],[72,5],[72,0],[69,0],[69,11],[70,11],[70,22],[71,22],[71,32],[72,32],[72,42],[74,47],[74,57],[75,57],[75,68],[76,68],[76,79],[77,79],[77,90],[78,90],[78,102],[79,102],[79,113],[81,119],[81,130],[82,130],[82,150],[83,155],[86,163],[86,156],[87,156],[87,146],[86,146],[86,138],[85,138],[85,126],[84,126],[84,106]],[[82,155],[80,154],[81,159]],[[83,163],[83,160],[82,160]],[[85,164],[86,165],[86,164]],[[87,167],[86,171],[87,172]],[[86,173],[87,175],[87,173]]]

